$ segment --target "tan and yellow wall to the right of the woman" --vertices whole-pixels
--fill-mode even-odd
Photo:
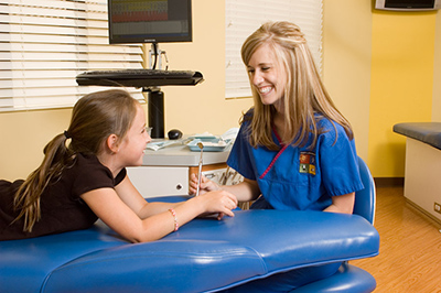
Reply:
[[[441,17],[373,2],[324,1],[324,83],[374,176],[402,177],[406,138],[394,124],[441,121]]]

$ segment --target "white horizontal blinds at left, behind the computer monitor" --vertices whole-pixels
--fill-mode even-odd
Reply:
[[[109,45],[107,26],[106,0],[3,0],[0,111],[71,107],[105,89],[78,86],[78,74],[142,68],[141,45]]]

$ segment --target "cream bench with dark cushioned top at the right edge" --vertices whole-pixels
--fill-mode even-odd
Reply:
[[[394,126],[406,137],[405,196],[434,220],[434,203],[441,204],[441,122],[412,122]]]

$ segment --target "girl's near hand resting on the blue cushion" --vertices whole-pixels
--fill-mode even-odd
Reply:
[[[200,216],[217,214],[217,219],[224,215],[234,217],[232,209],[237,207],[236,196],[225,191],[214,191],[193,198],[203,206],[203,213]]]

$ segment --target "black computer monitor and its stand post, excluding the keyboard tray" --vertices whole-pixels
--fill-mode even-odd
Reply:
[[[151,43],[149,65],[161,68],[159,43],[192,42],[192,0],[108,0],[110,44]],[[152,62],[152,56],[154,62]],[[148,93],[152,138],[164,138],[164,95],[159,87]]]

